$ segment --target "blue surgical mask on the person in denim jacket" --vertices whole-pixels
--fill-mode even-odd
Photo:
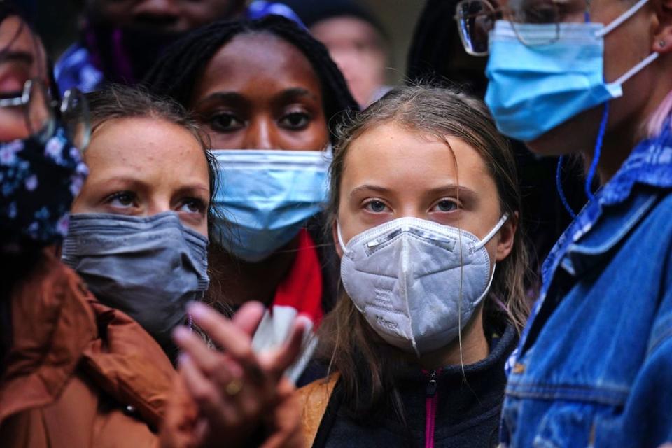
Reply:
[[[605,83],[604,36],[636,13],[640,0],[605,26],[601,23],[516,24],[498,20],[489,38],[485,102],[498,130],[531,141],[577,114],[622,96],[622,85],[650,64],[654,52],[612,83]],[[558,34],[559,33],[559,34]],[[528,42],[552,42],[525,45]],[[557,38],[557,40],[555,40]]]

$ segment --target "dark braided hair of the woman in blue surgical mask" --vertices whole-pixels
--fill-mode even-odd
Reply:
[[[344,113],[359,109],[325,46],[295,22],[279,15],[268,15],[260,20],[215,22],[191,32],[164,52],[144,84],[152,92],[188,106],[196,83],[216,52],[235,36],[251,33],[274,34],[307,57],[320,80],[325,117],[331,129],[342,123]]]

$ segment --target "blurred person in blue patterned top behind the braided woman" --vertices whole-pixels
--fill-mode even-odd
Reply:
[[[170,43],[188,31],[216,20],[269,13],[296,20],[286,6],[244,0],[85,0],[80,39],[64,52],[55,67],[62,90],[83,92],[105,83],[133,85]]]

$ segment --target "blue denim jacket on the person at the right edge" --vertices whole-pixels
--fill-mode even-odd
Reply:
[[[502,445],[671,441],[670,132],[633,150],[561,236],[542,274],[509,363]]]

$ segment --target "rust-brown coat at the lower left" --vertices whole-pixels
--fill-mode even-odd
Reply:
[[[140,325],[47,252],[10,300],[2,447],[158,447],[175,371]]]

